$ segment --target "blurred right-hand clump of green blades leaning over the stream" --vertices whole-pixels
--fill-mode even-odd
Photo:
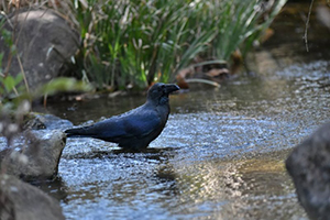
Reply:
[[[211,54],[219,59],[229,61],[231,54],[240,48],[244,56],[286,1],[212,1],[215,6],[210,8],[209,16],[217,18],[215,25],[218,34],[212,41]]]

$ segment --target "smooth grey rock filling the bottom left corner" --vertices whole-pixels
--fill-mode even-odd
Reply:
[[[65,219],[57,200],[15,177],[0,175],[1,220]]]

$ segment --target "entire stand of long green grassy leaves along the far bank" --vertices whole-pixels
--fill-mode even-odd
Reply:
[[[99,87],[124,88],[172,80],[197,56],[245,53],[286,0],[75,2],[88,76]]]

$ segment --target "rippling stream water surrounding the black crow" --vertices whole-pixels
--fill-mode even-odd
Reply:
[[[277,35],[283,33],[282,21],[279,16],[274,24]],[[299,29],[289,30],[301,37]],[[288,41],[278,41],[284,40],[275,37],[254,54],[273,54],[271,59],[257,59],[256,77],[172,96],[167,125],[145,152],[68,139],[61,180],[45,190],[61,199],[67,219],[307,219],[284,160],[330,119],[329,46],[320,52],[326,61],[310,59],[296,50],[296,42],[290,47]],[[321,43],[327,43],[324,37]],[[279,48],[288,50],[292,61]],[[63,102],[48,110],[79,124],[144,100],[103,98]]]

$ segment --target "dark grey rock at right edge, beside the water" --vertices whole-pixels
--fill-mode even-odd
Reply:
[[[286,160],[300,204],[311,219],[330,218],[330,123],[296,146]]]

